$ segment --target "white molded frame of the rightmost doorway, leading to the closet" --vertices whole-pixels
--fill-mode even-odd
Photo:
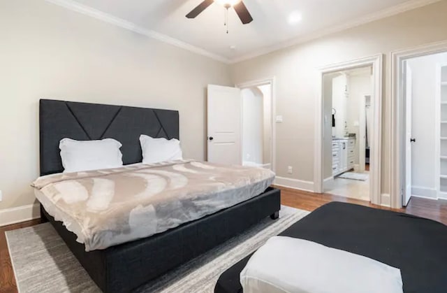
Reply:
[[[404,155],[402,148],[404,145],[403,137],[400,135],[404,131],[405,123],[403,121],[404,95],[402,89],[402,70],[405,60],[422,57],[426,55],[447,52],[447,41],[430,43],[418,47],[398,50],[390,53],[391,59],[391,87],[390,87],[390,114],[391,122],[390,142],[390,203],[392,208],[402,208],[402,188],[404,188]]]

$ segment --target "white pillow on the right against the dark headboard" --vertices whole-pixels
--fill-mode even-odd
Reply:
[[[154,164],[158,162],[182,159],[182,148],[178,139],[152,138],[145,134],[140,135],[142,162]]]

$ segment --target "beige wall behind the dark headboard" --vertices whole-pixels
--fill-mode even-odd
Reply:
[[[206,85],[232,85],[228,65],[43,0],[1,0],[0,27],[0,211],[34,203],[40,98],[177,109],[204,159]]]

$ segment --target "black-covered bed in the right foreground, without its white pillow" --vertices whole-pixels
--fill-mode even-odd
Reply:
[[[314,241],[399,268],[404,292],[446,292],[447,226],[404,213],[328,203],[281,236]],[[240,293],[248,257],[221,274],[215,292]]]

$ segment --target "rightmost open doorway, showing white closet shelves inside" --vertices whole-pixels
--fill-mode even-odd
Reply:
[[[447,199],[447,52],[402,60],[402,206]]]

